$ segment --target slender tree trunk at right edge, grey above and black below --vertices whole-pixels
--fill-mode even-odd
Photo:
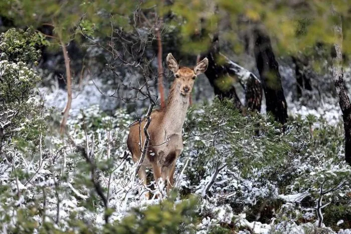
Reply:
[[[335,14],[335,12],[333,11]],[[334,53],[332,58],[332,76],[339,105],[342,112],[343,128],[345,131],[345,160],[351,165],[351,104],[347,95],[347,87],[343,79],[342,70],[342,27],[341,18],[339,25],[334,26],[336,42],[333,46]]]

